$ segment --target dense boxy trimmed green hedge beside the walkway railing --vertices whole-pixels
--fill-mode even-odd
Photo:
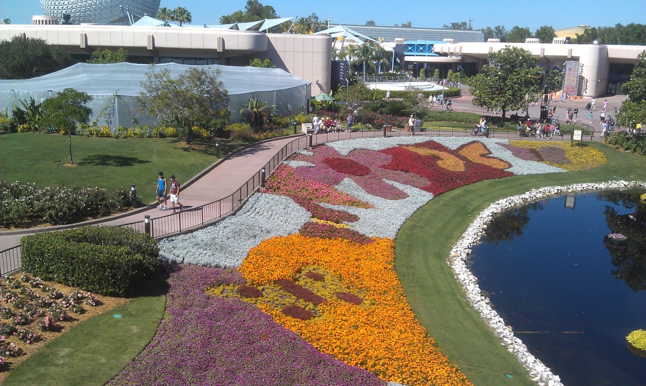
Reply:
[[[156,241],[123,227],[42,232],[25,236],[21,247],[26,272],[103,295],[132,294],[158,267]]]

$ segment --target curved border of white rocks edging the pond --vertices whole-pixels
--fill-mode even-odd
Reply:
[[[489,305],[489,299],[482,295],[478,280],[466,267],[466,259],[471,253],[474,245],[479,244],[480,239],[485,235],[486,224],[491,221],[495,214],[504,212],[517,205],[524,204],[528,201],[545,198],[554,194],[568,192],[580,192],[585,190],[606,190],[618,188],[646,188],[646,182],[641,181],[608,181],[605,183],[576,183],[565,187],[545,187],[532,189],[525,194],[503,198],[489,205],[488,208],[480,212],[462,237],[455,242],[451,249],[450,257],[447,259],[448,265],[453,270],[453,276],[459,281],[466,294],[466,299],[480,314],[480,317],[488,323],[496,336],[501,340],[501,344],[518,358],[523,367],[525,367],[532,381],[539,386],[563,386],[561,378],[552,373],[549,367],[534,357],[527,350],[523,341],[514,336],[512,327],[505,324],[497,312]]]

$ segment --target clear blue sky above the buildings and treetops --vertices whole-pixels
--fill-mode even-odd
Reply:
[[[451,22],[473,19],[474,29],[518,25],[532,32],[542,25],[555,30],[576,25],[614,26],[617,23],[646,24],[644,0],[548,0],[548,1],[383,1],[383,0],[261,0],[271,5],[280,17],[304,17],[315,12],[319,19],[332,23],[360,24],[374,20],[391,26],[412,21],[413,27],[442,28]],[[160,6],[183,6],[191,11],[194,25],[218,24],[220,16],[244,9],[246,0],[161,0]],[[30,24],[32,15],[41,15],[39,0],[0,0],[0,19],[12,24]]]

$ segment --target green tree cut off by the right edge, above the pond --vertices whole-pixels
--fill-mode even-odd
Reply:
[[[617,121],[623,127],[634,128],[637,123],[646,123],[646,51],[639,54],[630,81],[621,86],[621,91],[630,99],[621,103]]]

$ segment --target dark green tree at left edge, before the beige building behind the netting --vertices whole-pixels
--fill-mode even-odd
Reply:
[[[74,64],[58,46],[37,37],[0,41],[0,79],[30,79]]]

